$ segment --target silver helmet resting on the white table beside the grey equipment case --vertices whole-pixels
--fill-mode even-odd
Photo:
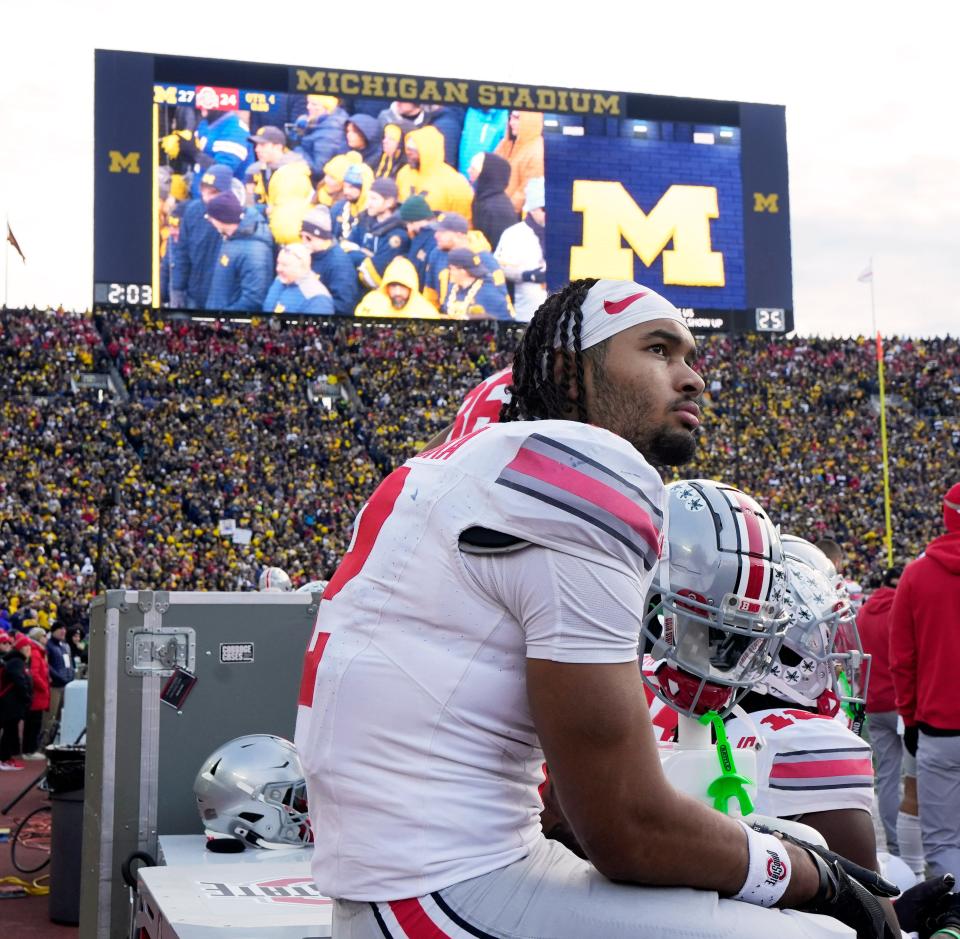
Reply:
[[[237,737],[203,762],[193,783],[204,828],[263,848],[313,842],[297,751],[272,734]]]

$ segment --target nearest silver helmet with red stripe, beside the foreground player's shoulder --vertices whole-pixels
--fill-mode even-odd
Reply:
[[[667,486],[664,556],[642,634],[644,682],[681,714],[725,713],[774,660],[787,625],[780,538],[748,495],[708,479]]]

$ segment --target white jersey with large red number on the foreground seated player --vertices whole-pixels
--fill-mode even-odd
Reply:
[[[589,562],[594,579],[631,578],[642,598],[664,510],[659,476],[629,443],[572,421],[485,424],[381,483],[324,591],[300,689],[296,745],[325,895],[423,896],[541,837],[525,668],[557,659],[560,644],[481,588],[461,533]],[[578,622],[559,660],[635,658],[641,616],[627,637]]]

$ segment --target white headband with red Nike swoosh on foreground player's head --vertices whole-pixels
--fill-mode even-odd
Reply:
[[[631,326],[651,320],[673,320],[686,325],[680,311],[665,297],[632,280],[598,280],[587,292],[580,308],[580,348],[589,349]],[[560,330],[554,348],[573,349],[573,322],[567,330],[566,342]]]

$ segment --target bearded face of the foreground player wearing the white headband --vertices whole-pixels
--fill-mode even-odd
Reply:
[[[586,368],[590,420],[629,440],[651,463],[680,466],[696,452],[703,379],[696,345],[674,320],[651,320],[617,333]]]

